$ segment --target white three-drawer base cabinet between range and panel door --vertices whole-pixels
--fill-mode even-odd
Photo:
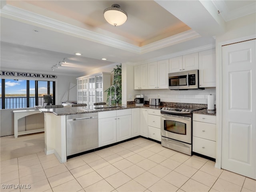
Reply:
[[[216,158],[216,116],[193,114],[192,151]]]

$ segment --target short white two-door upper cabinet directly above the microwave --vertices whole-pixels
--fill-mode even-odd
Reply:
[[[198,52],[169,60],[170,73],[198,69]]]

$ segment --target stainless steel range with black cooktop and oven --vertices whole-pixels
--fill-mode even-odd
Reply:
[[[161,109],[162,146],[192,154],[192,111],[198,109]]]

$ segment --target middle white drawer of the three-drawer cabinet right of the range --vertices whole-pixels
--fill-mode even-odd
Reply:
[[[193,136],[216,141],[216,124],[193,121]]]

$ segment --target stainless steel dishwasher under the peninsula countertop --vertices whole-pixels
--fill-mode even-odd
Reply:
[[[98,113],[66,116],[67,156],[98,148]]]

